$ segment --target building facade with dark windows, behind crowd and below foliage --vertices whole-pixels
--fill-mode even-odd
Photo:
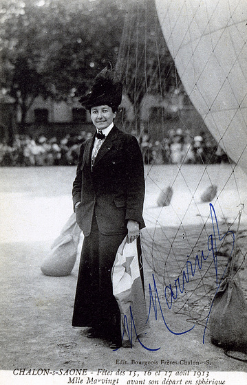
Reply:
[[[200,115],[186,100],[188,98],[184,97],[184,94],[176,94],[175,92],[172,97],[167,98],[161,98],[159,95],[144,95],[140,104],[140,125],[137,126],[135,108],[129,97],[123,95],[116,124],[125,131],[136,135],[147,133],[152,141],[162,140],[169,131],[176,131],[177,129],[189,130],[191,135],[197,135],[205,131],[206,128]],[[20,126],[21,111],[17,111],[17,118],[15,119],[17,124],[15,124],[13,106],[11,107],[10,104],[8,107],[7,104],[0,106],[1,115],[5,115],[5,123],[2,126],[7,131],[12,130],[15,133],[19,131],[19,133],[26,133],[34,138],[45,135],[46,137],[56,136],[58,139],[67,133],[76,135],[80,131],[94,132],[89,111],[81,107],[77,98],[71,98],[66,102],[63,100],[57,102],[52,98],[37,97],[26,115],[24,132],[23,127]],[[12,129],[14,125],[17,127]],[[6,133],[5,136],[8,137]]]

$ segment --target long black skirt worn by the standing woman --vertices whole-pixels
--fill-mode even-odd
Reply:
[[[93,327],[109,336],[120,333],[120,311],[114,298],[111,267],[126,234],[100,234],[96,219],[83,241],[72,326]]]

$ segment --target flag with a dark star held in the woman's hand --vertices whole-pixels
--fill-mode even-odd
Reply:
[[[128,344],[147,329],[147,311],[138,263],[136,239],[122,241],[111,270],[114,296],[121,314],[122,344]]]

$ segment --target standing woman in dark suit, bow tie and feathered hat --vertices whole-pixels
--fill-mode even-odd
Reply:
[[[72,325],[91,327],[89,338],[121,346],[120,311],[111,284],[118,246],[138,239],[144,228],[144,167],[136,137],[114,125],[122,85],[104,69],[80,103],[91,113],[96,132],[80,148],[73,203],[85,236],[80,258]]]

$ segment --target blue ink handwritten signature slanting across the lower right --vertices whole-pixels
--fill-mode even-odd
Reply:
[[[213,265],[215,268],[216,290],[215,290],[215,295],[213,296],[213,300],[211,301],[211,307],[208,311],[208,316],[206,317],[206,325],[205,325],[204,333],[203,333],[203,343],[205,340],[206,326],[208,324],[208,319],[209,319],[209,316],[211,314],[213,302],[214,302],[215,296],[219,290],[219,285],[222,283],[222,280],[224,279],[224,274],[226,273],[226,269],[228,267],[228,263],[227,263],[222,276],[219,276],[218,261],[217,261],[217,241],[224,241],[225,237],[228,234],[231,234],[233,236],[233,246],[232,246],[232,249],[230,251],[230,256],[233,252],[233,248],[234,248],[234,244],[235,244],[235,235],[234,235],[233,231],[228,230],[222,236],[220,235],[219,224],[217,221],[217,215],[215,212],[215,208],[213,207],[212,203],[209,204],[209,207],[210,207],[210,212],[211,212],[211,222],[213,225],[213,232],[212,232],[212,234],[210,234],[208,236],[207,252],[204,253],[202,251],[200,256],[196,255],[194,263],[191,263],[191,261],[186,261],[186,267],[184,268],[182,273],[179,274],[178,278],[175,278],[174,285],[170,284],[164,288],[164,297],[166,299],[166,305],[167,305],[168,309],[171,309],[175,300],[177,300],[179,298],[179,295],[184,292],[184,288],[185,288],[186,284],[189,284],[191,279],[195,276],[195,273],[198,270],[202,269],[202,265],[203,265],[204,261],[207,261],[209,256],[211,256],[213,258]],[[230,260],[230,256],[229,256],[228,262]],[[178,336],[185,334],[185,333],[189,333],[189,331],[191,331],[195,327],[195,325],[193,325],[193,327],[191,327],[190,329],[188,329],[186,331],[181,331],[181,332],[175,332],[175,331],[171,330],[171,328],[167,325],[167,322],[164,318],[164,312],[162,310],[162,306],[160,303],[160,296],[158,294],[157,285],[155,283],[155,277],[153,274],[152,274],[152,276],[153,276],[153,289],[151,287],[151,284],[149,283],[149,313],[148,313],[148,317],[147,317],[147,322],[149,321],[149,318],[151,316],[151,309],[153,309],[153,311],[154,311],[155,320],[158,320],[158,310],[160,310],[160,314],[162,316],[162,320],[164,322],[164,325],[167,327],[167,329],[171,333],[178,335]],[[130,311],[130,317],[129,317],[130,318],[130,325],[128,323],[128,318],[125,315],[124,316],[124,327],[123,327],[123,333],[122,333],[122,340],[125,336],[125,333],[127,333],[127,337],[129,338],[130,346],[132,347],[133,335],[134,335],[134,336],[136,336],[136,340],[138,340],[138,342],[140,343],[140,345],[144,349],[149,350],[149,351],[158,351],[160,349],[160,347],[158,347],[156,349],[151,349],[149,347],[144,346],[144,344],[142,344],[140,338],[138,337],[138,333],[136,331],[136,325],[135,325],[135,322],[133,319],[131,306],[129,307],[129,311]],[[115,349],[115,350],[118,350],[118,349]]]

